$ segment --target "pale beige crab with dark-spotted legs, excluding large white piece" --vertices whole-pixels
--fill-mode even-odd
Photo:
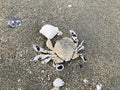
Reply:
[[[84,40],[79,44],[76,32],[74,30],[70,30],[69,32],[71,38],[63,37],[62,39],[57,40],[54,46],[52,41],[48,39],[46,46],[49,50],[33,45],[34,50],[40,53],[34,57],[34,61],[38,61],[38,59],[41,58],[43,60],[42,63],[48,63],[52,60],[54,67],[78,57],[81,57],[82,60],[86,62],[84,56],[80,52],[81,50],[84,50]]]

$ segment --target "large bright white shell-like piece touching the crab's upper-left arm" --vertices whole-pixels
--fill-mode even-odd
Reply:
[[[47,39],[52,39],[57,34],[58,35],[62,34],[62,32],[59,31],[58,27],[55,27],[49,24],[44,25],[39,32],[43,34]]]

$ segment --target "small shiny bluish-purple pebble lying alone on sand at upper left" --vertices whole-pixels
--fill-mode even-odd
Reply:
[[[8,25],[14,28],[14,27],[20,26],[21,22],[22,21],[19,18],[13,17],[10,20],[8,20]]]

